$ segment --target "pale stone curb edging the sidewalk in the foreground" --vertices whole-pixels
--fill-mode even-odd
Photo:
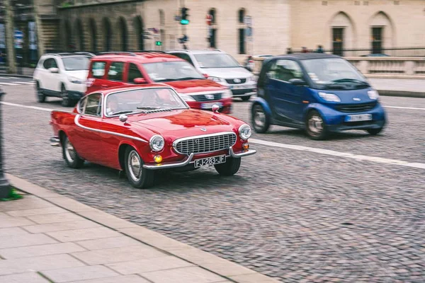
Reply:
[[[69,212],[77,214],[81,217],[94,221],[102,226],[106,226],[109,229],[113,229],[118,233],[122,233],[125,236],[133,238],[137,241],[145,243],[145,245],[156,248],[157,250],[173,255],[181,260],[197,265],[198,267],[208,270],[209,272],[220,275],[230,282],[235,283],[278,283],[280,281],[262,275],[259,272],[250,270],[242,265],[219,258],[216,255],[207,253],[198,248],[181,243],[172,238],[166,237],[161,233],[151,231],[137,224],[132,224],[129,221],[120,219],[111,214],[103,212],[101,210],[89,207],[86,204],[77,202],[69,197],[64,197],[56,192],[47,190],[38,185],[28,182],[27,180],[18,178],[14,175],[6,173],[6,178],[10,180],[11,184],[18,190],[22,190],[30,195],[39,197],[42,200],[50,202],[67,209]]]

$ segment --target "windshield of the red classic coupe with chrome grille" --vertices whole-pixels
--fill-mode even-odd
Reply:
[[[188,108],[186,103],[170,88],[135,89],[112,93],[106,97],[108,116],[185,108]]]

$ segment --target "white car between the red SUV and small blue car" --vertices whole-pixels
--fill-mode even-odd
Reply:
[[[254,74],[221,50],[171,50],[167,53],[185,59],[208,79],[227,86],[234,97],[249,100],[256,94]]]

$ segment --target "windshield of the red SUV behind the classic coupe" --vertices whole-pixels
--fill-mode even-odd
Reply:
[[[156,62],[143,64],[152,81],[184,81],[191,79],[205,79],[196,69],[186,61]]]

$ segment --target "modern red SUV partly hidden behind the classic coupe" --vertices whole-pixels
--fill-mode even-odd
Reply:
[[[232,110],[232,91],[205,79],[186,60],[161,51],[101,52],[91,58],[87,93],[115,86],[140,83],[166,83],[173,87],[191,108],[219,112]]]

